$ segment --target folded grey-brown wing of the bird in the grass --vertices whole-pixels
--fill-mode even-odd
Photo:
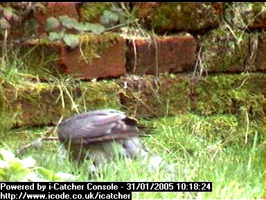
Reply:
[[[123,113],[95,111],[77,115],[60,127],[59,135],[72,144],[96,144],[131,138],[139,129]],[[133,120],[133,119],[132,119]]]

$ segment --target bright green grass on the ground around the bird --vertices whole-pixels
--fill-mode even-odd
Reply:
[[[221,117],[223,125],[216,120],[209,126],[214,118]],[[149,171],[143,160],[116,158],[91,174],[89,160],[80,166],[71,163],[60,154],[62,146],[56,141],[28,149],[21,158],[32,156],[37,166],[73,174],[78,181],[213,181],[213,192],[133,192],[133,199],[259,199],[263,197],[263,133],[254,122],[256,126],[250,125],[245,144],[245,128],[238,122],[232,115],[201,117],[191,113],[145,122],[154,126],[154,134],[143,139],[145,145],[169,165],[175,164],[175,173],[168,172],[167,167]],[[21,142],[25,145],[53,133],[47,130],[12,130],[6,133],[1,146],[15,151]],[[230,140],[224,139],[227,131]],[[215,133],[213,137],[211,133]]]

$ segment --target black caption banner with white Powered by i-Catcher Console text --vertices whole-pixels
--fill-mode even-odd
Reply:
[[[212,192],[212,182],[0,182],[0,199],[132,199],[132,192]]]

